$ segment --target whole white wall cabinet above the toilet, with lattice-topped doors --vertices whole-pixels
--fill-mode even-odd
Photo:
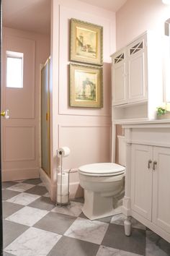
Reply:
[[[155,118],[156,107],[163,101],[163,48],[163,38],[147,31],[112,54],[114,121]]]

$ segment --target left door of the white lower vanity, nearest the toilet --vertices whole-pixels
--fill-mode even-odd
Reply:
[[[132,209],[151,221],[153,147],[132,145],[131,199]]]

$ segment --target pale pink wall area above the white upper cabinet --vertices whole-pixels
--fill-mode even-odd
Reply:
[[[116,13],[117,50],[146,30],[164,34],[169,17],[170,7],[161,0],[128,0]]]

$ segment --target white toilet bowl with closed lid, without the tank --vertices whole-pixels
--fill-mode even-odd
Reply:
[[[114,214],[113,200],[124,191],[125,167],[116,163],[92,163],[79,167],[84,189],[84,215],[90,220]]]

